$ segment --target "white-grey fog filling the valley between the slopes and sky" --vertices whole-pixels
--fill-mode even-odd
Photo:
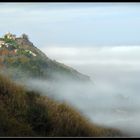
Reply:
[[[90,76],[90,84],[29,80],[28,86],[71,104],[90,121],[140,136],[140,46],[48,47],[48,57]]]

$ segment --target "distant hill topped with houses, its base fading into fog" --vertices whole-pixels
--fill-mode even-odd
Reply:
[[[33,77],[90,81],[88,76],[48,58],[25,34],[16,37],[8,33],[0,38],[0,66],[14,79]]]

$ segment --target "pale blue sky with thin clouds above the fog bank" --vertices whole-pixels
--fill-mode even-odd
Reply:
[[[0,3],[0,36],[39,48],[140,45],[140,3]]]

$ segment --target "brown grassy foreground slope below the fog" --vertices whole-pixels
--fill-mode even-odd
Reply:
[[[27,91],[0,75],[0,136],[122,136],[90,123],[66,104]]]

